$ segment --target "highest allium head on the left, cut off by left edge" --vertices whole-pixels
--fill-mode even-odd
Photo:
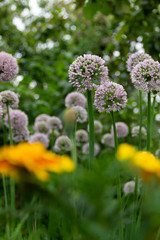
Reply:
[[[0,82],[10,82],[17,73],[16,58],[6,52],[0,52]]]

